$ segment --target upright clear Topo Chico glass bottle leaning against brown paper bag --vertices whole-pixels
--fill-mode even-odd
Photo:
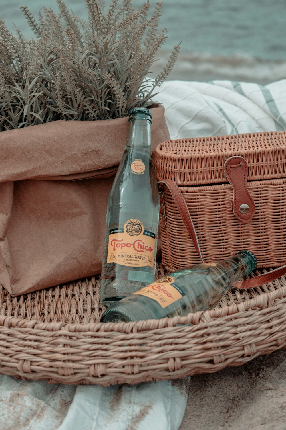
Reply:
[[[100,300],[105,306],[155,279],[159,194],[149,109],[129,113],[123,157],[108,197]]]

